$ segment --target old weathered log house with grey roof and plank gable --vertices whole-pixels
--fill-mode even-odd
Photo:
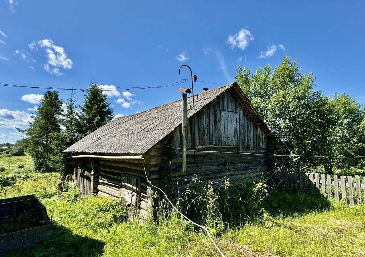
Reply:
[[[178,197],[193,178],[247,184],[273,172],[275,140],[237,83],[188,98],[187,169],[181,172],[182,100],[116,118],[65,150],[82,195],[121,198],[130,218],[154,216],[157,189]],[[259,155],[253,155],[259,154]],[[262,154],[262,155],[260,155]],[[120,156],[142,156],[144,159]],[[146,174],[146,175],[145,175]]]

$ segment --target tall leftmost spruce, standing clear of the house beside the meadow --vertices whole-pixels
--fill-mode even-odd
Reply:
[[[61,132],[60,117],[63,101],[56,91],[46,91],[43,99],[29,122],[29,128],[18,131],[26,133],[27,151],[34,160],[36,172],[51,171],[50,157],[53,155],[51,134]]]

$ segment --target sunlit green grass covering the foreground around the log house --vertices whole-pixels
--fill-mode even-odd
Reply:
[[[126,222],[119,201],[81,198],[70,184],[63,184],[62,193],[57,173],[18,175],[15,182],[4,177],[9,175],[0,175],[6,196],[34,192],[54,224],[46,241],[9,256],[219,256],[208,237],[176,213],[158,223]],[[365,255],[365,205],[350,208],[281,192],[257,210],[245,224],[227,223],[215,234],[226,256]]]

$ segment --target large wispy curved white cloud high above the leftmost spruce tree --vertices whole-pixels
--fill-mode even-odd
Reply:
[[[43,65],[43,69],[45,69],[45,71],[59,76],[64,74],[59,70],[59,68],[72,68],[73,62],[70,58],[68,58],[63,47],[55,45],[51,39],[39,40],[37,44],[40,47],[45,48],[45,52],[47,54],[47,64]],[[30,49],[35,49],[36,43],[32,42],[28,46]]]

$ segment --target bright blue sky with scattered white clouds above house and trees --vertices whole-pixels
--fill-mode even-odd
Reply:
[[[178,67],[188,64],[199,80],[227,84],[239,64],[255,71],[288,54],[314,73],[316,90],[364,103],[364,7],[364,1],[0,0],[0,83],[158,86],[179,80]],[[181,73],[190,76],[188,69]],[[198,81],[194,88],[216,86]],[[188,83],[109,91],[109,100],[116,114],[130,115],[179,99],[178,87]],[[0,142],[14,143],[23,136],[15,127],[26,127],[44,91],[0,86],[0,92]]]

